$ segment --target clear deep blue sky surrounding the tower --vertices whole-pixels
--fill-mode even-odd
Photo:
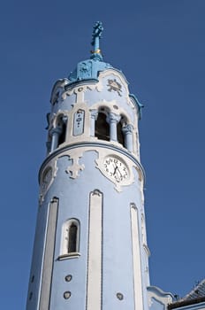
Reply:
[[[184,296],[204,275],[204,0],[8,1],[1,5],[1,307],[25,308],[50,91],[89,57],[103,21],[106,62],[142,104],[150,278]]]

